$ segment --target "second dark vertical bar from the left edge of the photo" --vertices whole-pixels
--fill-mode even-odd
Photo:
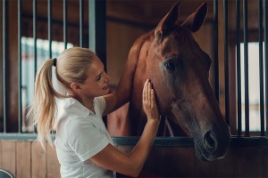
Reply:
[[[18,0],[18,132],[21,133],[21,0]]]

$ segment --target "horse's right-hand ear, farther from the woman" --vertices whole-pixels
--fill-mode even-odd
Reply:
[[[196,32],[205,21],[207,13],[207,4],[202,4],[196,12],[192,13],[188,16],[187,20],[185,20],[181,26],[189,28],[192,32]]]

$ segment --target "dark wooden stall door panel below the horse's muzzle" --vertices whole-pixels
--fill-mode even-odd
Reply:
[[[213,162],[199,160],[192,147],[155,147],[143,172],[163,177],[268,177],[267,162],[266,147],[231,147],[225,158]]]

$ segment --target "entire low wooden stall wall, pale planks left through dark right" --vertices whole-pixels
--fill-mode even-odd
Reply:
[[[132,146],[118,146],[129,152]],[[60,178],[55,150],[37,142],[1,141],[0,167],[17,178]],[[204,162],[193,147],[154,147],[143,174],[159,177],[268,177],[267,147],[230,147],[225,158]]]

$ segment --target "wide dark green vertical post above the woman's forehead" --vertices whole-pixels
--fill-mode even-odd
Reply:
[[[88,0],[89,49],[97,53],[106,70],[106,1]]]

